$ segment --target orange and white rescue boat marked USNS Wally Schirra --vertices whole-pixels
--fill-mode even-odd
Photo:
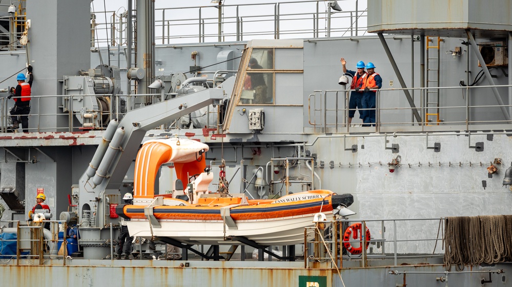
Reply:
[[[129,219],[131,236],[162,241],[171,238],[186,244],[236,244],[240,237],[260,245],[298,244],[304,242],[304,228],[314,226],[316,214],[323,213],[326,220],[333,220],[333,210],[353,203],[351,194],[337,195],[327,190],[251,200],[244,194],[209,193],[204,187],[213,175],[198,172],[206,167],[203,153],[207,150],[207,145],[190,139],[145,142],[136,160],[134,204],[117,208],[120,216]],[[192,182],[193,192],[185,190],[178,196],[185,200],[172,194],[154,195],[152,182],[158,167],[170,161],[178,178],[199,174]]]

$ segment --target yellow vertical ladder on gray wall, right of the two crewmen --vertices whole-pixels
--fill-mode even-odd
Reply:
[[[440,37],[426,37],[426,93],[425,93],[425,121],[427,126],[429,117],[435,117],[439,125],[439,66],[441,42]],[[432,43],[432,44],[431,44]]]

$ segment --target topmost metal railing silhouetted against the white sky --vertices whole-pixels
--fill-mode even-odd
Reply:
[[[156,44],[176,44],[365,34],[366,2],[352,0],[339,5],[343,11],[332,10],[328,1],[221,5],[220,9],[217,5],[159,8],[155,9],[154,40]],[[94,15],[92,46],[126,45],[127,11],[95,11]],[[132,19],[135,27],[135,17]]]

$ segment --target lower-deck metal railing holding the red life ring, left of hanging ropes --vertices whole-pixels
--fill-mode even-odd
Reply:
[[[349,261],[356,261],[360,267],[367,267],[370,260],[388,259],[392,260],[394,266],[415,258],[439,260],[444,257],[441,231],[443,220],[425,218],[322,221],[321,224],[324,225],[317,224],[316,227],[306,228],[304,231],[304,268],[310,268],[310,264],[315,261],[331,262],[333,268],[343,268],[343,263]],[[367,229],[371,235],[370,239],[365,236],[366,232],[361,232],[362,236],[356,232],[356,239],[353,239],[354,232],[346,236],[347,229],[357,223],[361,224],[360,230]],[[404,239],[400,237],[402,232],[416,236]],[[346,240],[347,238],[349,240]],[[352,254],[345,247],[348,244],[360,248],[361,252]],[[364,245],[367,247],[362,248]]]

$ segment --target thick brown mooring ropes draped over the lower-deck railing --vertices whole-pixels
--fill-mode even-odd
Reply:
[[[512,261],[512,215],[447,217],[444,263],[464,265]]]

